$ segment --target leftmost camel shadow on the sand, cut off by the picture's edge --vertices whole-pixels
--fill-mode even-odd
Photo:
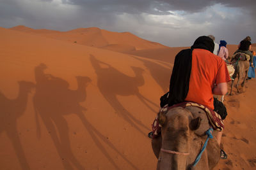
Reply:
[[[29,81],[19,81],[19,96],[16,99],[8,99],[0,92],[0,133],[6,132],[12,142],[15,153],[22,169],[30,169],[17,129],[17,119],[24,115],[28,104],[28,94],[35,87]]]

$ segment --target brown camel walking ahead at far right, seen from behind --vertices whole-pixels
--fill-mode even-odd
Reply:
[[[244,83],[245,83],[245,80],[247,78],[247,73],[248,73],[248,70],[249,70],[249,67],[250,67],[250,62],[248,60],[237,60],[237,61],[235,60],[235,62],[236,62],[234,64],[235,73],[234,73],[233,77],[236,78],[236,76],[238,74],[236,89],[237,89],[237,92],[239,93],[240,92],[239,89],[238,89],[239,88],[239,83],[240,83],[240,80],[243,76],[244,76],[244,79],[243,79],[243,82],[241,83],[241,87],[243,87],[243,91],[244,91]],[[232,95],[233,85],[234,85],[234,80],[232,80],[232,83],[231,83],[230,95]]]

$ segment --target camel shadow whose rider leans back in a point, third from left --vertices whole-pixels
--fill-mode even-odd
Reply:
[[[143,127],[143,129],[149,131],[148,127],[142,124],[141,121],[134,117],[131,113],[129,113],[129,111],[127,111],[117,99],[117,96],[134,95],[137,96],[138,99],[140,99],[140,101],[150,110],[156,112],[145,101],[148,101],[148,103],[151,104],[154,103],[142,96],[138,89],[138,87],[144,84],[144,78],[142,75],[143,69],[139,67],[132,67],[136,76],[131,77],[121,73],[105,62],[97,60],[93,55],[90,56],[92,66],[94,67],[95,73],[97,73],[98,76],[97,83],[102,96],[105,97],[105,99],[112,106],[112,108],[115,109],[116,113],[120,115],[120,117],[124,118],[126,122],[135,127],[139,132],[141,132],[141,134],[145,135],[145,132],[143,132],[140,127]]]

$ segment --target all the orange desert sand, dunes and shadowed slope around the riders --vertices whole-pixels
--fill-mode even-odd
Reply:
[[[0,36],[0,169],[156,169],[147,134],[187,47],[99,28]],[[225,96],[228,159],[216,170],[256,168],[255,87]]]

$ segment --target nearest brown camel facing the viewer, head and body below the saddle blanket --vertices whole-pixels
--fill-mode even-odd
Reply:
[[[204,110],[193,106],[172,108],[166,114],[159,114],[159,123],[161,136],[152,138],[152,149],[158,159],[157,170],[207,170],[218,164],[220,146],[212,138],[198,164],[193,166],[207,139],[205,131],[210,128]]]

